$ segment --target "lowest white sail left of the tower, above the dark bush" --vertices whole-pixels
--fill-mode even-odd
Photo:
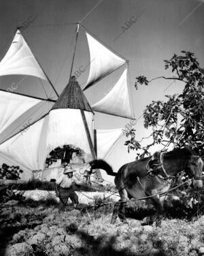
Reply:
[[[44,169],[46,148],[46,124],[44,119],[39,120],[29,130],[19,132],[11,139],[0,145],[0,156],[3,160],[9,160],[13,165],[19,165],[25,171]]]

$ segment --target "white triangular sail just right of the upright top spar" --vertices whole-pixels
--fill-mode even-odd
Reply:
[[[93,38],[89,33],[86,32],[86,36],[90,51],[90,72],[84,89],[97,83],[101,78],[126,63],[126,60],[109,51],[108,48],[103,46],[103,44]]]

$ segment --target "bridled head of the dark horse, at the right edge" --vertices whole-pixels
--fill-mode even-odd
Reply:
[[[201,190],[203,188],[203,160],[200,156],[190,156],[186,167],[186,172],[192,179],[194,190]]]

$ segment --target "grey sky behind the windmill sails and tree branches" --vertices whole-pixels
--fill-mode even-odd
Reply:
[[[171,58],[174,53],[180,54],[182,50],[195,53],[201,66],[204,66],[202,1],[1,0],[0,10],[0,58],[3,58],[10,46],[16,27],[32,20],[22,34],[58,93],[61,93],[69,79],[76,28],[75,24],[70,23],[81,21],[97,38],[129,60],[129,85],[136,118],[141,116],[152,100],[165,100],[165,95],[180,93],[183,88],[182,83],[171,84],[171,81],[159,79],[148,87],[139,86],[136,90],[136,76],[144,75],[148,79],[171,76],[171,70],[164,69],[163,60]],[[136,21],[131,24],[130,20]],[[80,27],[73,72],[80,66],[87,66],[89,61],[86,35]],[[123,70],[117,70],[86,90],[90,104],[107,94]],[[0,88],[7,89],[22,78],[23,76],[1,76]],[[83,86],[87,78],[88,68],[78,78],[80,85]],[[54,97],[49,85],[44,83],[44,87],[47,94],[52,93],[50,97]],[[17,92],[46,97],[39,80],[33,77],[24,79]],[[129,119],[95,114],[95,127],[99,129],[124,128],[129,122]],[[138,140],[150,134],[150,130],[143,128],[143,118],[138,120],[135,130]],[[122,163],[134,158],[135,153],[128,154],[126,147],[120,143],[110,161],[115,160],[114,166],[117,169]]]

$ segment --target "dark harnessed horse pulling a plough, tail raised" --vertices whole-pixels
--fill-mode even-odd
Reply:
[[[129,162],[114,173],[112,167],[104,160],[93,160],[90,162],[91,169],[104,169],[108,175],[115,176],[115,184],[120,195],[120,201],[114,205],[111,223],[116,222],[117,216],[122,223],[127,223],[124,216],[126,202],[133,199],[149,199],[156,208],[153,216],[145,218],[142,225],[159,224],[163,214],[165,196],[171,186],[172,177],[177,173],[185,171],[195,191],[203,187],[203,160],[189,147],[176,148],[170,152],[156,152],[153,156]]]

